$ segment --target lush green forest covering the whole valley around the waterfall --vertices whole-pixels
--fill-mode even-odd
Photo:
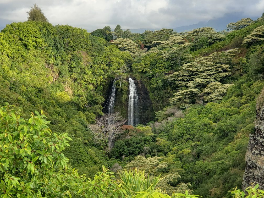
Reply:
[[[243,197],[264,14],[231,31],[143,34],[120,25],[89,33],[28,14],[0,32],[1,197]],[[155,120],[122,125],[106,149],[92,126],[114,79],[126,119],[129,76],[147,88]]]

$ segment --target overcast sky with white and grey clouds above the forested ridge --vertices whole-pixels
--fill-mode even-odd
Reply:
[[[53,25],[88,31],[116,24],[122,29],[175,28],[229,13],[256,18],[264,12],[264,0],[0,0],[0,27],[26,21],[34,3]]]

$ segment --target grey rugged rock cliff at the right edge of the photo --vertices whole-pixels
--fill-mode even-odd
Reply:
[[[260,189],[264,189],[264,105],[257,104],[256,113],[256,133],[249,135],[242,190],[253,182],[258,183]]]

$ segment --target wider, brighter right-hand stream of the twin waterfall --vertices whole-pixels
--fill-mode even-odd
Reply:
[[[139,124],[138,119],[138,95],[134,80],[129,77],[129,100],[128,100],[128,125]]]

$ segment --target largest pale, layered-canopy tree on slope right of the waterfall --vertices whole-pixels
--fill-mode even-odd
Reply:
[[[235,48],[196,58],[191,63],[183,64],[178,72],[169,74],[165,79],[177,87],[201,89],[210,82],[229,76],[231,72],[227,63],[231,63],[238,52],[240,50]]]

